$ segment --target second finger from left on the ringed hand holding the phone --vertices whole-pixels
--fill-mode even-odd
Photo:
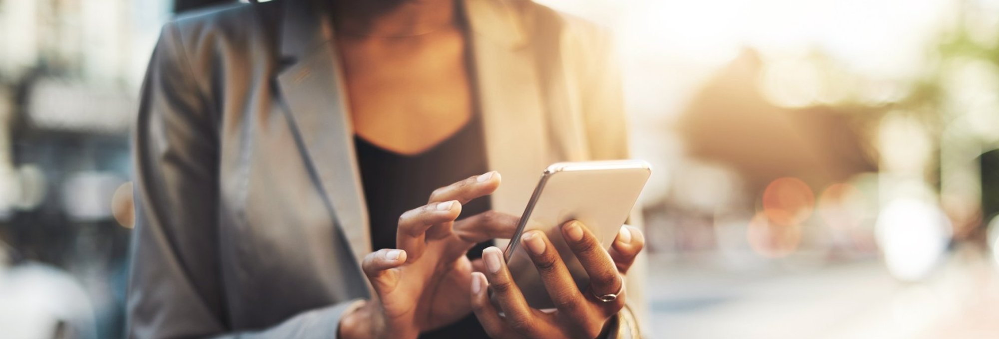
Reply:
[[[500,248],[491,246],[483,250],[483,261],[486,261],[486,277],[500,303],[506,324],[521,335],[539,337],[537,335],[539,324],[535,321],[533,309],[527,306],[520,288],[513,283],[509,270],[503,262]]]

